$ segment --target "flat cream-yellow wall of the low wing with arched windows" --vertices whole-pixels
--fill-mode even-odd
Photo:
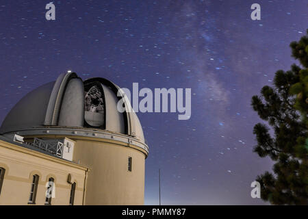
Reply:
[[[69,174],[77,184],[74,205],[84,202],[87,168],[1,140],[0,167],[5,168],[0,205],[28,205],[33,175],[40,177],[36,205],[44,205],[49,177],[55,179],[55,198],[51,205],[69,205]]]

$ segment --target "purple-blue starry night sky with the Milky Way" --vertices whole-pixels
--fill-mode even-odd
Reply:
[[[270,159],[253,153],[261,120],[251,96],[297,63],[289,44],[308,27],[308,2],[0,0],[0,123],[27,92],[66,70],[120,87],[192,88],[192,116],[138,113],[150,153],[145,204],[266,204],[251,182]],[[261,21],[251,5],[261,5]]]

